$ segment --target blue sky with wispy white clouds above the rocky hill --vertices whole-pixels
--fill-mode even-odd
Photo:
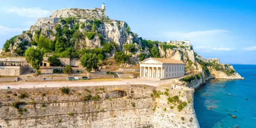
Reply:
[[[253,0],[0,0],[0,47],[28,30],[36,18],[64,8],[93,9],[104,2],[109,18],[158,41],[190,40],[205,58],[256,64],[256,1]]]

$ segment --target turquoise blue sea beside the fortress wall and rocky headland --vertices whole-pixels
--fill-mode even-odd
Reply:
[[[201,128],[256,128],[256,65],[233,66],[244,80],[211,80],[194,93]]]

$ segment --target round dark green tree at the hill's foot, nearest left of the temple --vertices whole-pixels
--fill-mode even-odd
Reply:
[[[97,64],[99,62],[97,55],[95,53],[86,53],[80,58],[81,65],[86,68],[87,71],[92,71],[97,69]]]

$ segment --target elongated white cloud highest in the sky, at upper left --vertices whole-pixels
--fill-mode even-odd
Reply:
[[[29,17],[29,18],[48,17],[51,13],[48,10],[40,9],[39,7],[34,7],[34,8],[3,7],[3,11],[6,13],[16,13],[19,16]]]

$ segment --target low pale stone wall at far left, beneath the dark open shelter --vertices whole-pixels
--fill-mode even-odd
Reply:
[[[0,66],[0,75],[19,76],[27,69],[28,66]]]

